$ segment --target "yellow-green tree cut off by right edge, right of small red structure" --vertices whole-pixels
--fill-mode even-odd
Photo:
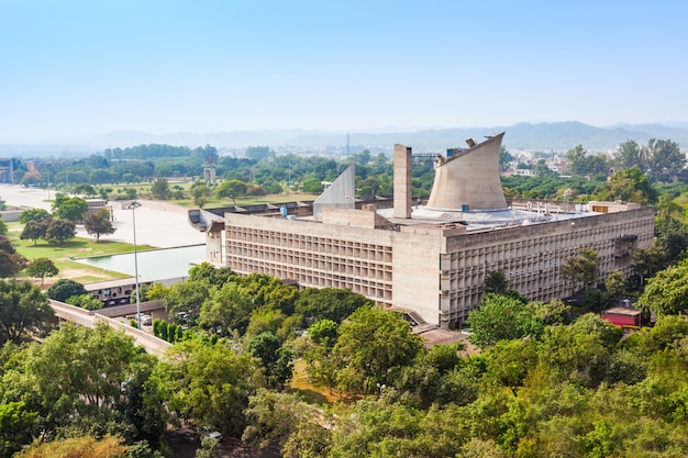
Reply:
[[[688,309],[688,262],[669,266],[650,279],[637,300],[645,312],[677,315]]]

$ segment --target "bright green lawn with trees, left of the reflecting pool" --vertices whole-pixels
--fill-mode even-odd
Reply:
[[[16,253],[29,260],[35,258],[48,258],[53,260],[55,266],[59,269],[59,273],[56,277],[45,279],[43,284],[44,288],[49,287],[60,278],[70,278],[79,283],[92,283],[95,281],[107,281],[130,277],[124,273],[86,266],[74,261],[73,258],[131,253],[134,250],[133,245],[109,241],[100,241],[96,243],[90,238],[73,238],[64,245],[52,245],[45,241],[38,241],[38,243],[34,245],[32,241],[22,241],[19,238],[23,228],[22,224],[8,223],[8,237],[10,238],[14,249],[16,249]],[[137,249],[145,250],[151,249],[151,247],[138,245]],[[18,278],[30,279],[23,272],[20,272]],[[40,280],[37,280],[37,283],[40,283]]]

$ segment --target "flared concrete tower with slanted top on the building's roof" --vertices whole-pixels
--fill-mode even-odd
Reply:
[[[507,199],[499,179],[502,132],[435,161],[435,181],[426,209],[441,211],[503,210]],[[473,141],[469,141],[469,145]]]

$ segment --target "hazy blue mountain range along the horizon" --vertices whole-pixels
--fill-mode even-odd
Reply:
[[[390,127],[391,130],[392,127]],[[1,143],[4,156],[56,156],[90,154],[106,148],[125,148],[142,144],[169,144],[176,146],[211,145],[218,149],[241,149],[248,146],[271,148],[363,148],[391,150],[393,144],[411,146],[415,152],[437,152],[464,147],[467,138],[481,141],[484,136],[506,132],[503,145],[509,150],[562,150],[582,145],[593,152],[613,150],[619,144],[633,139],[640,145],[651,138],[670,139],[688,148],[688,123],[617,124],[597,127],[576,121],[554,123],[518,123],[510,126],[423,129],[398,132],[321,132],[306,130],[231,131],[209,134],[174,133],[149,134],[137,131],[120,131],[64,143],[19,144]],[[347,138],[348,136],[348,138]]]

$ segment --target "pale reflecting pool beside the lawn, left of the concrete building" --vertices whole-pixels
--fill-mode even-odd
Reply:
[[[177,248],[151,249],[136,254],[138,277],[144,280],[166,280],[188,277],[189,269],[206,260],[206,245],[180,246]],[[113,270],[134,277],[134,254],[95,256],[74,259],[77,262],[101,269]]]

